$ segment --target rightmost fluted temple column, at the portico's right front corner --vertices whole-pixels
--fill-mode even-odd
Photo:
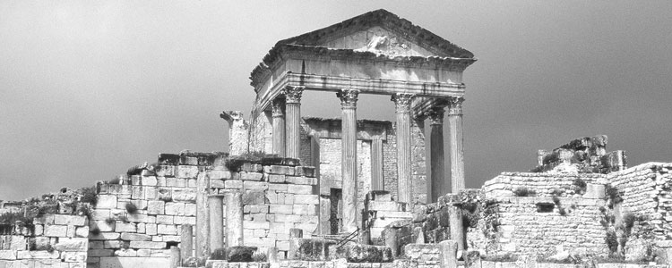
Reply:
[[[448,109],[448,122],[451,127],[451,180],[452,193],[457,194],[464,188],[464,149],[462,147],[462,102],[464,97],[453,96]]]

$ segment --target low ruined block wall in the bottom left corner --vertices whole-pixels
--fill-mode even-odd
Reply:
[[[32,227],[0,235],[0,267],[85,267],[89,227],[85,215],[46,214]]]

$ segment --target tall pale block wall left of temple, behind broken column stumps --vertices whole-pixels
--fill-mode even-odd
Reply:
[[[144,170],[121,180],[123,184],[100,183],[90,221],[90,229],[96,230],[89,237],[90,266],[109,262],[109,257],[124,258],[128,264],[168,260],[169,247],[181,242],[181,225],[196,222],[198,180],[208,180],[213,194],[243,193],[246,246],[278,247],[284,258],[289,229],[304,230],[306,237],[313,234],[319,222],[313,167],[246,163],[229,172],[225,157],[163,154],[154,172]],[[127,204],[137,211],[129,211]]]

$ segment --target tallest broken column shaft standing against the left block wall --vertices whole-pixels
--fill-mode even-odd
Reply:
[[[210,256],[210,213],[208,211],[208,188],[210,178],[205,172],[196,180],[196,257]]]

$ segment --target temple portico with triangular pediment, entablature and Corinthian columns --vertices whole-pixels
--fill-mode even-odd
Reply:
[[[324,200],[339,196],[344,231],[361,228],[362,207],[358,207],[358,203],[362,201],[364,185],[368,190],[393,190],[395,201],[409,207],[418,202],[435,202],[449,191],[464,188],[462,72],[475,61],[469,51],[384,11],[366,13],[325,29],[281,40],[251,74],[256,100],[248,150],[263,151],[271,147],[272,151],[266,153],[319,166],[324,163],[319,155],[315,156],[320,154],[320,140],[340,139],[340,177],[322,184],[332,187],[320,186],[315,192],[319,191]],[[341,105],[340,130],[330,131],[337,134],[308,130],[310,126],[302,121],[301,96],[311,91],[336,93]],[[357,101],[362,94],[391,97],[396,114],[390,132],[393,139],[360,135]],[[444,114],[450,126],[448,137],[443,133]],[[426,119],[431,129],[429,142],[418,145],[418,138],[425,139]],[[419,130],[411,131],[414,126]],[[268,129],[271,129],[271,138],[263,138]],[[303,147],[310,148],[302,149],[302,135],[304,139],[311,137],[303,142]],[[267,140],[272,145],[268,145]],[[450,172],[444,165],[445,144],[450,147]],[[370,155],[370,159],[358,163],[362,153],[358,147],[365,149],[363,146],[370,151],[365,154]],[[392,150],[384,150],[385,146]],[[429,150],[430,154],[413,156],[419,154],[418,150]],[[389,154],[394,154],[393,162],[386,161],[392,157]],[[361,181],[365,166],[371,172],[366,183]],[[429,175],[426,182],[425,174]],[[392,176],[393,181],[389,180]],[[418,188],[423,189],[418,191]],[[418,196],[420,192],[423,197]]]

